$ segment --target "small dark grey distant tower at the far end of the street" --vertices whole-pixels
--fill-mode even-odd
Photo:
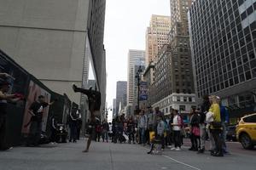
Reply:
[[[124,95],[127,93],[127,82],[116,82],[116,111],[119,114],[120,110],[125,108]],[[121,105],[121,108],[119,106]]]

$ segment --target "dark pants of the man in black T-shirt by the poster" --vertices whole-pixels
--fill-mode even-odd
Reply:
[[[42,122],[32,121],[29,127],[29,134],[28,134],[26,144],[38,145],[41,139],[41,133],[42,133]]]

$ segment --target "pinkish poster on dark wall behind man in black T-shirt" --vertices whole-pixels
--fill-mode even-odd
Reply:
[[[39,87],[38,84],[36,84],[35,82],[30,81],[21,133],[29,132],[29,126],[27,127],[25,126],[28,122],[30,122],[30,119],[32,117],[31,114],[28,112],[28,110],[29,110],[29,107],[32,105],[32,103],[38,100],[39,95],[43,95],[45,102],[49,103],[50,94],[46,90],[44,90],[44,88]],[[44,132],[46,130],[48,113],[49,113],[49,107],[44,108],[44,115],[43,115],[43,122],[42,122],[42,131]]]

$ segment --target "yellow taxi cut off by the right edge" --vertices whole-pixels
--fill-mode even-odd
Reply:
[[[241,118],[236,126],[236,139],[244,149],[253,149],[256,145],[256,113]]]

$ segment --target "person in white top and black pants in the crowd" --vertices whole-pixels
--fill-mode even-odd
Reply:
[[[182,120],[181,116],[177,114],[177,110],[173,110],[173,121],[172,121],[172,131],[174,139],[174,148],[172,150],[181,150],[181,126]]]

